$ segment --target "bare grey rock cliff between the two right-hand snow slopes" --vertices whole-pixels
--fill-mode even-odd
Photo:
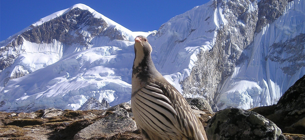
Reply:
[[[210,104],[218,85],[247,59],[242,51],[253,41],[258,14],[256,1],[215,1],[213,5],[222,8],[227,22],[218,29],[213,48],[198,54],[190,76],[183,81],[184,94],[200,93]]]

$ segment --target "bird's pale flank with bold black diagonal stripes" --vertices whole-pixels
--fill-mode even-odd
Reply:
[[[166,97],[160,88],[155,84],[148,84],[137,92],[132,98],[132,103],[137,110],[136,115],[140,115],[141,127],[149,129],[156,134],[168,134],[175,137],[179,133],[176,127],[177,112],[171,105],[171,101]]]

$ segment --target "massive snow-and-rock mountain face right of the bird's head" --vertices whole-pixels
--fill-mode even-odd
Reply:
[[[304,5],[303,1],[217,0],[195,7],[164,23],[155,36],[148,36],[156,48],[156,68],[169,74],[165,77],[184,96],[204,97],[220,109],[275,104],[304,74]],[[294,40],[300,42],[294,44]],[[270,54],[278,52],[272,49],[277,43],[300,49]],[[192,52],[187,58],[185,50]],[[172,54],[176,55],[170,58]],[[272,57],[279,57],[275,55],[284,58],[282,62],[273,61]]]

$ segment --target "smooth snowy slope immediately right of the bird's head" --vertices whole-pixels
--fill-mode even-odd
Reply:
[[[173,17],[160,27],[156,35],[148,36],[153,47],[156,68],[183,92],[180,84],[190,75],[197,61],[197,54],[213,47],[217,30],[224,24],[226,19],[222,14],[222,7],[215,7],[215,1]]]

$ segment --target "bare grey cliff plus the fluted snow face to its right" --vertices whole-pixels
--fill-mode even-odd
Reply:
[[[277,103],[304,74],[303,4],[215,1],[227,22],[213,48],[198,54],[183,93],[199,93],[220,109]]]

